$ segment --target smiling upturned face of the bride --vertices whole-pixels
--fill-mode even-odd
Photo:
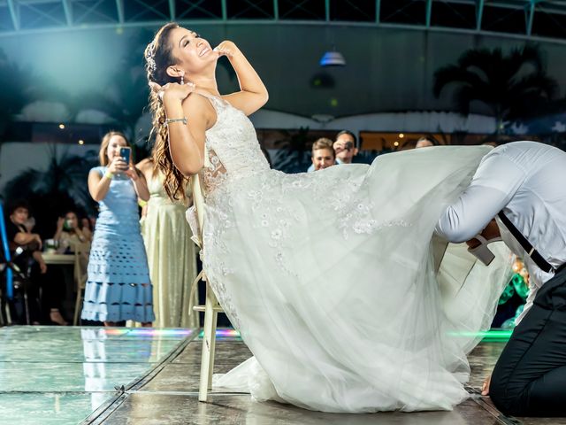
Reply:
[[[174,28],[169,37],[172,56],[178,63],[174,67],[181,68],[190,80],[190,75],[199,73],[218,60],[218,54],[212,51],[210,43],[195,31],[187,28]]]

